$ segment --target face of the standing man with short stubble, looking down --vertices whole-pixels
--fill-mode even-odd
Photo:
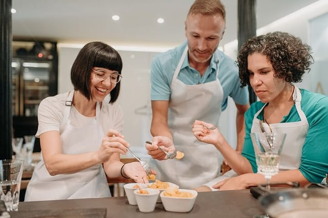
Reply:
[[[190,14],[185,22],[189,60],[208,62],[223,37],[225,22],[220,14]]]

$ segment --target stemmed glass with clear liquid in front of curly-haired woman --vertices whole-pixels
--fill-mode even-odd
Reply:
[[[285,140],[285,133],[251,133],[257,172],[263,174],[270,190],[270,179],[279,172],[280,154]]]

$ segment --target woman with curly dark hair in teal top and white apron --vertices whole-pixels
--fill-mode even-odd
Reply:
[[[198,187],[198,191],[243,189],[264,184],[256,174],[257,165],[250,134],[284,132],[279,173],[271,182],[296,181],[325,183],[328,173],[328,96],[297,88],[294,83],[313,63],[311,47],[289,33],[274,32],[249,39],[238,55],[242,86],[250,85],[260,101],[245,114],[245,140],[238,154],[218,129],[206,130],[211,124],[196,120],[193,132],[198,140],[213,144],[232,170]],[[204,126],[203,126],[204,125]]]

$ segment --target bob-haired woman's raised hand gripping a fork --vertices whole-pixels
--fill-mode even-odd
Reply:
[[[110,129],[101,141],[98,150],[98,159],[101,163],[109,160],[113,153],[125,155],[130,144],[124,139],[118,131]]]

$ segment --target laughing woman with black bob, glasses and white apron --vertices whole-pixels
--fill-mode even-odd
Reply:
[[[119,155],[130,146],[120,133],[123,115],[116,103],[121,70],[117,51],[90,42],[72,65],[74,90],[40,103],[35,136],[40,138],[42,160],[25,201],[110,197],[106,175],[148,182],[139,162],[120,162]]]

